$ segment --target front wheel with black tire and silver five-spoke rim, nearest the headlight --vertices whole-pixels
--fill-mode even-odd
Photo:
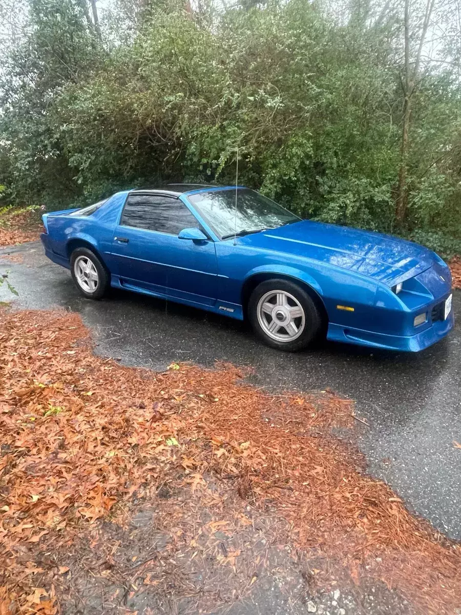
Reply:
[[[267,346],[286,352],[309,346],[323,328],[320,312],[309,294],[295,282],[282,279],[266,280],[253,290],[248,318]]]

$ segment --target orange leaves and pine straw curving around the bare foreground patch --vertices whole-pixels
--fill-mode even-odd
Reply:
[[[82,534],[172,471],[195,492],[207,473],[233,479],[242,498],[291,523],[292,541],[341,558],[358,584],[382,579],[425,613],[461,605],[459,546],[412,517],[331,435],[354,423],[352,402],[267,395],[238,383],[230,365],[122,367],[93,355],[76,314],[0,317],[3,605],[15,598],[21,613],[56,613],[53,587],[31,589],[25,544],[50,549]]]

